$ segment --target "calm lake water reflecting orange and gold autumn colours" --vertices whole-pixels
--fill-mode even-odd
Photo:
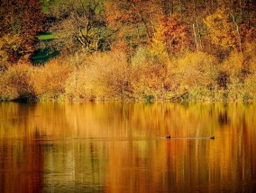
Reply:
[[[255,189],[254,103],[0,103],[0,192]]]

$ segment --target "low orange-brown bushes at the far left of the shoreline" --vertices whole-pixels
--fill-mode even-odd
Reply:
[[[71,68],[50,60],[46,66],[17,64],[10,66],[0,77],[2,100],[35,100],[43,96],[55,98],[63,93]]]

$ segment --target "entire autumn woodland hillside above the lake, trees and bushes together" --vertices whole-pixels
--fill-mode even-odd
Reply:
[[[255,36],[255,0],[0,0],[0,100],[252,101]]]

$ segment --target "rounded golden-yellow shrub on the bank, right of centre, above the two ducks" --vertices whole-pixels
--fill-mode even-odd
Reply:
[[[176,65],[169,66],[169,75],[173,82],[179,83],[176,92],[187,91],[197,99],[197,95],[206,100],[213,97],[218,72],[215,57],[203,52],[188,53],[177,59]]]

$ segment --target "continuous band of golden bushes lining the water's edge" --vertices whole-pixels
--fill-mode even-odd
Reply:
[[[45,66],[16,64],[0,72],[0,99],[251,101],[256,98],[251,53],[220,61],[203,52],[170,58],[139,48],[133,57],[110,51],[61,56]]]

